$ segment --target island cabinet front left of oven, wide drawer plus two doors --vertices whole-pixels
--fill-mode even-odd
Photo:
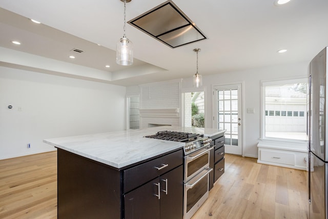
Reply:
[[[140,187],[137,187],[138,183],[126,183],[129,185],[128,188],[137,188],[124,195],[125,219],[181,219],[183,217],[183,166],[180,152],[174,152],[157,161],[150,161],[125,171],[126,178],[132,181],[137,173],[135,170],[143,169],[145,177],[142,176],[142,172],[139,173],[137,180],[134,181],[138,183],[142,178],[155,176]],[[156,171],[153,171],[154,169]],[[168,172],[161,174],[162,170]]]

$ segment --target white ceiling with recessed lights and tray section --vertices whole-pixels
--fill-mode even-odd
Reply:
[[[132,0],[127,21],[163,2]],[[115,63],[123,34],[120,0],[0,0],[0,65],[131,86],[192,77],[195,48],[201,49],[199,73],[208,75],[310,62],[328,46],[327,0],[292,0],[283,6],[274,0],[173,2],[208,39],[172,49],[127,24],[134,64],[126,67]],[[85,52],[70,59],[73,48]],[[284,48],[288,51],[277,53]]]

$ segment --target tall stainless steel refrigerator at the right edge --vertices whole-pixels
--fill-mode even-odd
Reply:
[[[327,49],[316,55],[309,66],[309,203],[311,219],[328,219],[328,118]]]

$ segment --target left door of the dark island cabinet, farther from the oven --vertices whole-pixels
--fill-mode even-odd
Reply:
[[[160,200],[156,196],[159,191],[158,186],[160,187],[159,178],[156,178],[124,195],[125,219],[159,218]]]

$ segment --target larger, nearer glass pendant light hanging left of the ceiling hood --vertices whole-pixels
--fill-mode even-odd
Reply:
[[[129,66],[133,64],[133,44],[125,35],[126,30],[126,3],[131,0],[120,0],[124,2],[124,26],[123,37],[119,39],[116,44],[116,63],[122,66]]]

